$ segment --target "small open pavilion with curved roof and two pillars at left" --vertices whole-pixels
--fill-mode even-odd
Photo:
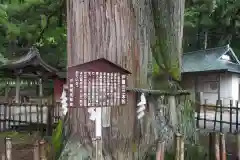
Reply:
[[[35,47],[30,48],[26,55],[15,60],[7,60],[0,65],[0,73],[3,78],[16,79],[16,103],[20,103],[20,78],[36,79],[38,96],[43,97],[43,81],[56,78],[57,72],[57,69],[43,61]]]

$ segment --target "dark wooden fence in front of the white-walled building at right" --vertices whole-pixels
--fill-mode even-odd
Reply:
[[[240,130],[239,102],[230,100],[229,106],[224,106],[222,101],[216,105],[208,105],[207,100],[196,108],[197,128],[214,132],[238,133]]]

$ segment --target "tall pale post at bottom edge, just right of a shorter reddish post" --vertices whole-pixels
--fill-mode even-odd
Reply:
[[[184,138],[179,133],[175,135],[175,144],[176,144],[175,160],[184,160]]]

